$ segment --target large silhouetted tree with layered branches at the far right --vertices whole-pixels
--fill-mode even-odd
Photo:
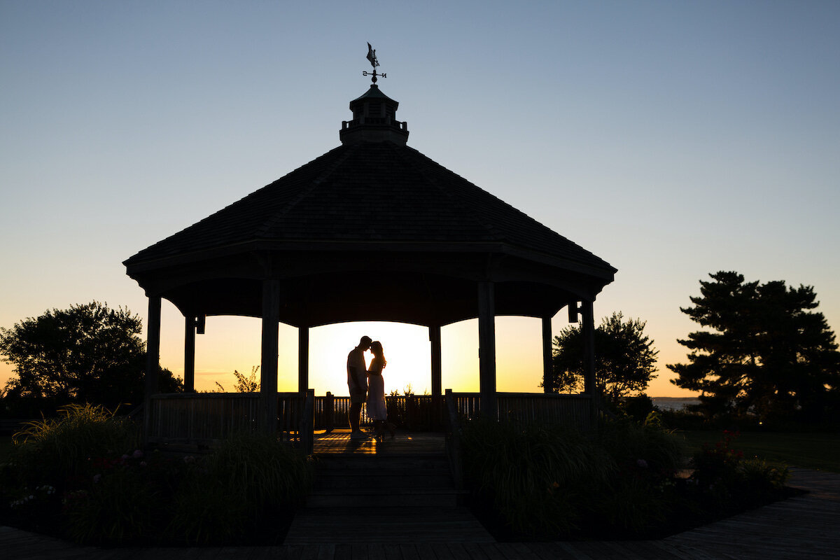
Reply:
[[[678,339],[689,363],[668,365],[678,375],[671,382],[739,414],[821,415],[828,392],[840,388],[840,353],[825,317],[811,311],[819,305],[813,287],[709,276],[694,306],[680,308],[706,330]]]

